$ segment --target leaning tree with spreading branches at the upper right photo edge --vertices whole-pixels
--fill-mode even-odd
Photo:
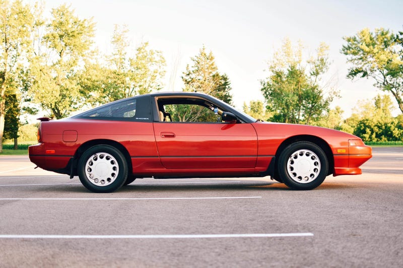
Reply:
[[[372,78],[376,87],[393,95],[403,113],[403,33],[366,28],[344,40],[342,53],[352,65],[347,77]]]

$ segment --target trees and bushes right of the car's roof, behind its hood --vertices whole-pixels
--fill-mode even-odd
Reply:
[[[358,102],[351,117],[343,120],[340,107],[329,108],[339,97],[337,88],[322,81],[330,64],[328,46],[320,44],[316,55],[307,57],[303,45],[293,47],[289,39],[268,62],[269,76],[260,80],[265,102],[244,103],[244,111],[264,121],[338,129],[364,141],[402,141],[403,32],[363,29],[344,40],[341,53],[347,56],[347,77],[371,79],[380,91],[393,96],[402,114],[392,117],[394,106],[386,94]]]

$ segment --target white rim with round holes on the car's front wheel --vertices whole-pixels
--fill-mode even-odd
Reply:
[[[287,161],[287,172],[295,182],[308,184],[320,173],[319,157],[311,150],[295,151]]]

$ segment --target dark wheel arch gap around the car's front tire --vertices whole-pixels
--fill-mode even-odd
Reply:
[[[322,138],[319,138],[317,136],[313,136],[313,135],[297,135],[297,136],[292,136],[289,137],[287,139],[285,139],[280,146],[277,148],[276,151],[276,157],[275,157],[275,163],[273,165],[273,167],[277,166],[277,161],[280,157],[281,152],[290,144],[294,143],[294,142],[298,142],[298,141],[308,141],[308,142],[312,142],[316,145],[318,145],[325,153],[326,158],[327,158],[327,162],[329,164],[329,168],[327,171],[327,175],[330,175],[333,173],[334,170],[334,159],[333,159],[333,153],[331,152],[331,148],[329,146],[329,144],[323,140]],[[277,168],[274,168],[274,176],[278,177],[278,170]]]

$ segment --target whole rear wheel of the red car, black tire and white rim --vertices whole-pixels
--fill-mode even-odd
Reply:
[[[111,193],[127,178],[127,162],[123,154],[110,145],[95,145],[80,157],[78,173],[85,188],[94,193]]]

